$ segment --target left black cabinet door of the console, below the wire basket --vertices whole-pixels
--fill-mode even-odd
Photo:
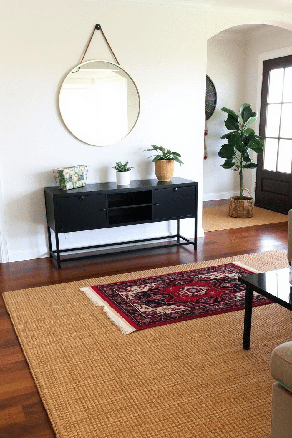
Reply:
[[[56,198],[56,222],[59,233],[106,226],[106,195]]]

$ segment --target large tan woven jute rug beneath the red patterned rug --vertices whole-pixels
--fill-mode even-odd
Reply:
[[[291,339],[290,311],[253,308],[246,351],[243,311],[124,336],[79,290],[231,261],[288,267],[285,252],[268,251],[3,294],[58,438],[269,436],[269,357]]]

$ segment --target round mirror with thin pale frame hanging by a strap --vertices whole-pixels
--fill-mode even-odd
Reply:
[[[113,145],[134,128],[140,97],[129,74],[119,65],[91,60],[74,67],[60,89],[64,124],[79,140],[94,146]]]

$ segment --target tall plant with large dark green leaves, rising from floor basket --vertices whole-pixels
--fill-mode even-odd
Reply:
[[[263,153],[262,137],[255,135],[251,128],[257,120],[257,112],[253,113],[249,103],[243,103],[239,108],[240,117],[225,106],[222,111],[228,114],[224,124],[232,132],[222,135],[227,138],[227,144],[222,145],[218,152],[219,157],[225,158],[220,166],[223,169],[231,169],[239,173],[240,188],[239,198],[243,199],[243,169],[255,169],[257,164],[250,159],[248,150],[251,149],[257,154]]]

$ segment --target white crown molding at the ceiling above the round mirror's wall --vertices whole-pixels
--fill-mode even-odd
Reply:
[[[104,2],[106,0],[81,0]],[[164,6],[180,7],[185,9],[203,9],[206,10],[213,6],[216,1],[210,0],[109,0],[109,3],[135,4],[144,6]]]

